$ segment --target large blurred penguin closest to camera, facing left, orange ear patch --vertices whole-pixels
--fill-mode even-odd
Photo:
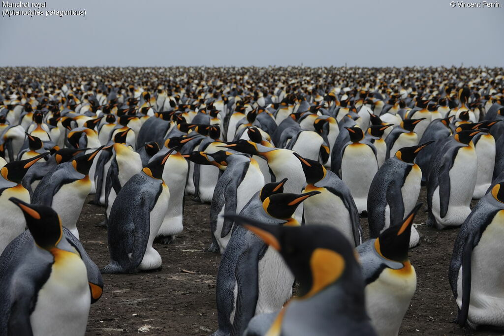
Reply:
[[[233,216],[278,250],[299,282],[298,297],[278,313],[255,316],[244,335],[375,335],[354,249],[324,225],[272,226]]]

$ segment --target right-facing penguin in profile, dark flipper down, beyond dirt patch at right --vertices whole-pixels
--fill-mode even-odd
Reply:
[[[443,229],[460,226],[469,208],[477,175],[472,138],[483,129],[462,130],[450,138],[431,160],[427,177],[428,225]]]

